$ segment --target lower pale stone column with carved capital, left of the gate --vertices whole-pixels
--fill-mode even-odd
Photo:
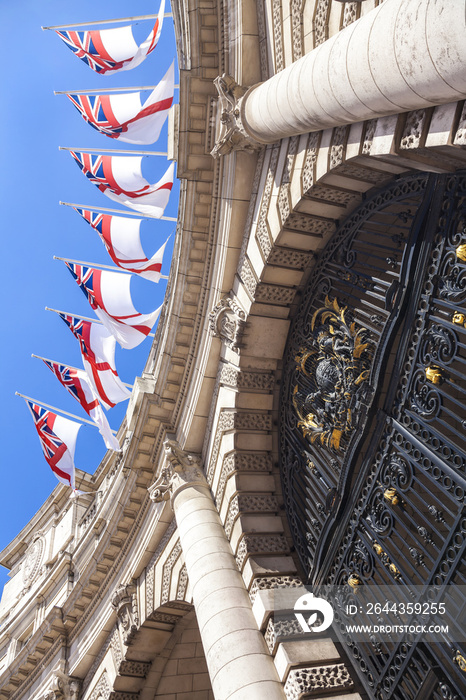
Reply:
[[[165,454],[149,493],[171,497],[215,700],[284,700],[199,458],[171,440]]]

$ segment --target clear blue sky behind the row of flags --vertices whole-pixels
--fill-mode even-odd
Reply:
[[[53,91],[154,85],[175,57],[171,19],[165,20],[157,48],[142,65],[110,76],[95,74],[55,32],[42,31],[41,26],[155,14],[158,8],[158,0],[0,0],[0,203],[5,254],[1,266],[0,549],[20,532],[58,483],[43,458],[25,401],[15,396],[15,391],[87,418],[44,363],[31,357],[34,353],[81,366],[77,342],[60,318],[45,311],[45,307],[93,316],[64,263],[53,260],[53,256],[113,264],[97,234],[71,208],[60,206],[59,201],[120,208],[125,213],[86,180],[69,153],[59,151],[59,146],[137,148],[98,134],[66,96],[54,96]],[[165,11],[170,11],[168,2]],[[150,20],[135,25],[136,40],[144,39],[150,28]],[[177,72],[175,82],[178,83]],[[165,127],[157,143],[142,148],[165,151],[166,143]],[[149,182],[155,182],[166,167],[164,158],[147,157],[143,174]],[[168,216],[177,215],[178,190],[175,182],[165,211]],[[149,257],[174,232],[174,226],[153,220],[143,223],[142,241]],[[166,249],[164,274],[169,271],[173,239],[172,235]],[[138,311],[157,308],[163,301],[165,287],[163,281],[156,285],[133,279],[133,300]],[[133,382],[141,373],[150,343],[151,339],[146,339],[134,350],[117,346],[117,370],[123,381]],[[126,406],[124,402],[107,413],[112,428],[119,427]],[[104,454],[98,430],[91,426],[81,428],[76,466],[93,473]],[[7,573],[0,567],[0,588]]]

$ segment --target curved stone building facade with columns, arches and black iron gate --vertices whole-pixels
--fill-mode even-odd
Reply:
[[[465,583],[464,0],[172,7],[166,301],[122,453],[2,552],[0,700],[465,697],[453,637],[276,596]]]

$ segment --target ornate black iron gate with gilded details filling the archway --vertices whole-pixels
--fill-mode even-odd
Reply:
[[[282,483],[309,582],[466,586],[466,174],[366,201],[327,246],[288,340]],[[411,592],[410,592],[411,590]],[[459,590],[459,589],[458,589]],[[466,601],[427,644],[340,635],[377,699],[466,697]],[[434,620],[435,621],[435,620]]]

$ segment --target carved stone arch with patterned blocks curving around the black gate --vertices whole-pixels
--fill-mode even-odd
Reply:
[[[252,598],[300,581],[276,429],[281,361],[300,294],[319,253],[369,194],[410,173],[465,167],[465,125],[460,102],[292,137],[251,156],[257,166],[243,245],[224,301],[235,328],[222,337],[203,452]],[[218,326],[214,333],[222,336]]]

